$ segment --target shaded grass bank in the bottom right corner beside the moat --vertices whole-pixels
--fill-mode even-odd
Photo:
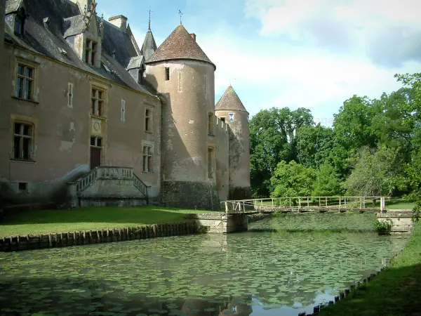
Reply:
[[[323,308],[321,316],[421,315],[421,223],[399,256],[366,287]]]

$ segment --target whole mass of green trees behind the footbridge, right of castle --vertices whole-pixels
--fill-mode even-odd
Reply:
[[[421,213],[421,73],[380,98],[345,100],[333,126],[304,108],[262,110],[250,120],[255,197],[407,195]]]

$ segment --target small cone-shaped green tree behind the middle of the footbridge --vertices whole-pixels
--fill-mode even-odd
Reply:
[[[316,174],[316,182],[314,183],[312,196],[335,197],[342,195],[342,191],[340,179],[333,166],[330,166],[329,164],[320,166],[320,169]]]

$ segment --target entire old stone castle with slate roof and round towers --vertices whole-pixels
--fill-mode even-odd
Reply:
[[[0,204],[220,209],[250,196],[248,112],[175,27],[138,46],[95,0],[0,0]],[[1,206],[1,205],[0,205]]]

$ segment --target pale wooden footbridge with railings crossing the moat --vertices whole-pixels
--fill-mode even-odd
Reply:
[[[385,197],[278,197],[269,199],[242,199],[222,202],[225,212],[232,213],[383,213]]]

